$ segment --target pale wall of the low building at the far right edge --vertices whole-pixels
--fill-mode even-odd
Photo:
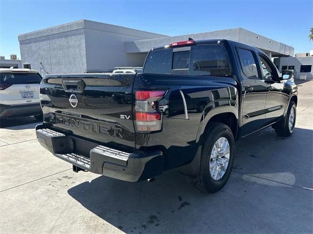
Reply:
[[[307,75],[307,80],[313,80],[313,57],[276,58],[274,64],[280,71],[284,65],[294,65],[294,79],[300,79],[300,75]],[[311,72],[300,72],[301,65],[312,65]]]

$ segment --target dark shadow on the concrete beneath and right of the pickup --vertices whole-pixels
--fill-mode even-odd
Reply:
[[[282,138],[267,128],[237,142],[234,170],[214,194],[192,188],[178,170],[152,183],[99,176],[67,192],[125,233],[310,233],[312,138],[310,129]]]

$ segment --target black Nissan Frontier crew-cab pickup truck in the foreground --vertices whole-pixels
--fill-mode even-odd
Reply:
[[[45,75],[37,138],[76,172],[135,182],[180,168],[215,192],[236,139],[268,126],[293,133],[297,86],[282,73],[257,48],[190,39],[153,48],[138,74]]]

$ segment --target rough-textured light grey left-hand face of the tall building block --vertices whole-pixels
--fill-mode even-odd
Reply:
[[[22,65],[46,73],[86,71],[84,24],[76,21],[19,36]]]

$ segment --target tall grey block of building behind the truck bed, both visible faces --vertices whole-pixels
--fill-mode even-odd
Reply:
[[[75,21],[19,36],[22,64],[42,75],[141,66],[144,55],[126,55],[126,41],[165,35],[95,21]]]

